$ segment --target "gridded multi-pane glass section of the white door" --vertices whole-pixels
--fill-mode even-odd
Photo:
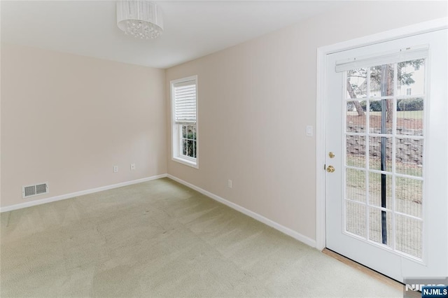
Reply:
[[[425,66],[422,57],[345,71],[343,97],[343,231],[419,261]]]

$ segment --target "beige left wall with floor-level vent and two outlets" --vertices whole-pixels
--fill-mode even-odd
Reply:
[[[2,44],[1,207],[167,173],[164,85],[162,69]]]

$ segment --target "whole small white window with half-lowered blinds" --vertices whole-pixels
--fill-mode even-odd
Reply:
[[[172,160],[198,168],[197,76],[171,81]]]

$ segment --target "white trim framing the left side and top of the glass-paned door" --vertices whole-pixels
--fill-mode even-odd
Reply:
[[[366,45],[392,41],[431,31],[448,28],[448,17],[412,24],[398,29],[384,31],[378,34],[355,38],[332,45],[317,48],[316,77],[316,248],[325,248],[325,107],[327,103],[325,69],[327,55]]]

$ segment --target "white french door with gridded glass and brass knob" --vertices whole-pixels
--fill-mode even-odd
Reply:
[[[327,55],[326,247],[448,276],[447,29]]]

